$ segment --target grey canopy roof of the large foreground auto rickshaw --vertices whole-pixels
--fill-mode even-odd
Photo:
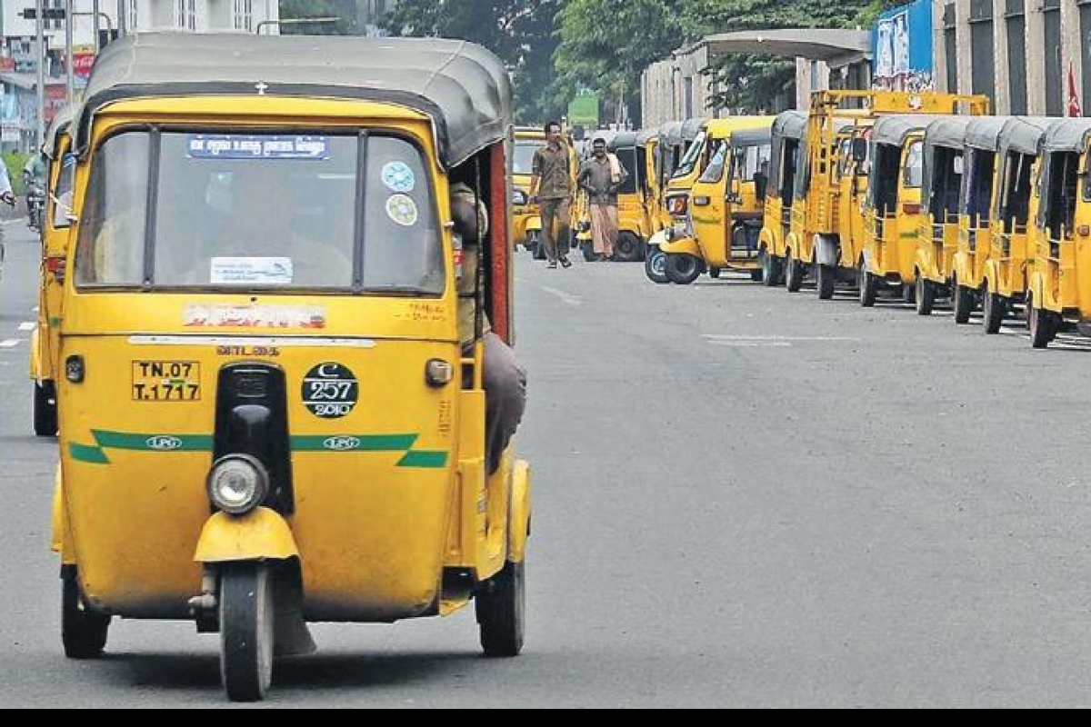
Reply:
[[[393,104],[432,119],[440,159],[456,167],[506,138],[512,86],[494,54],[463,40],[146,33],[107,46],[80,109],[91,122],[121,100],[281,96]]]

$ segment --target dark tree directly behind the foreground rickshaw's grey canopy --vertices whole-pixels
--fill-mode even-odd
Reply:
[[[512,71],[516,118],[538,123],[559,102],[553,85],[554,16],[563,0],[401,0],[381,24],[393,35],[470,40]]]

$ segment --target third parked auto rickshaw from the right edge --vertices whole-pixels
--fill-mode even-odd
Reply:
[[[968,323],[976,291],[985,279],[992,234],[993,194],[1003,155],[1000,131],[1007,117],[976,117],[966,129],[958,250],[951,259],[951,305],[955,320]]]

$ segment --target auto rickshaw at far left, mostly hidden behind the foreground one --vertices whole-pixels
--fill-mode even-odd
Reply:
[[[59,111],[46,132],[41,152],[49,160],[46,205],[41,225],[41,267],[38,276],[38,319],[31,335],[31,379],[34,381],[34,433],[57,436],[58,335],[63,323],[62,292],[65,252],[72,226],[72,174],[69,125],[74,109]]]

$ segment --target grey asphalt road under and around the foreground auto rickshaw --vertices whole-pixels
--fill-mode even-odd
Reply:
[[[21,225],[8,241],[0,704],[221,705],[217,641],[188,623],[115,623],[103,661],[61,654],[56,451],[29,436],[20,330],[37,249]],[[267,704],[1091,703],[1091,346],[519,263],[524,656],[480,657],[469,613],[320,626],[320,654],[280,668]]]

